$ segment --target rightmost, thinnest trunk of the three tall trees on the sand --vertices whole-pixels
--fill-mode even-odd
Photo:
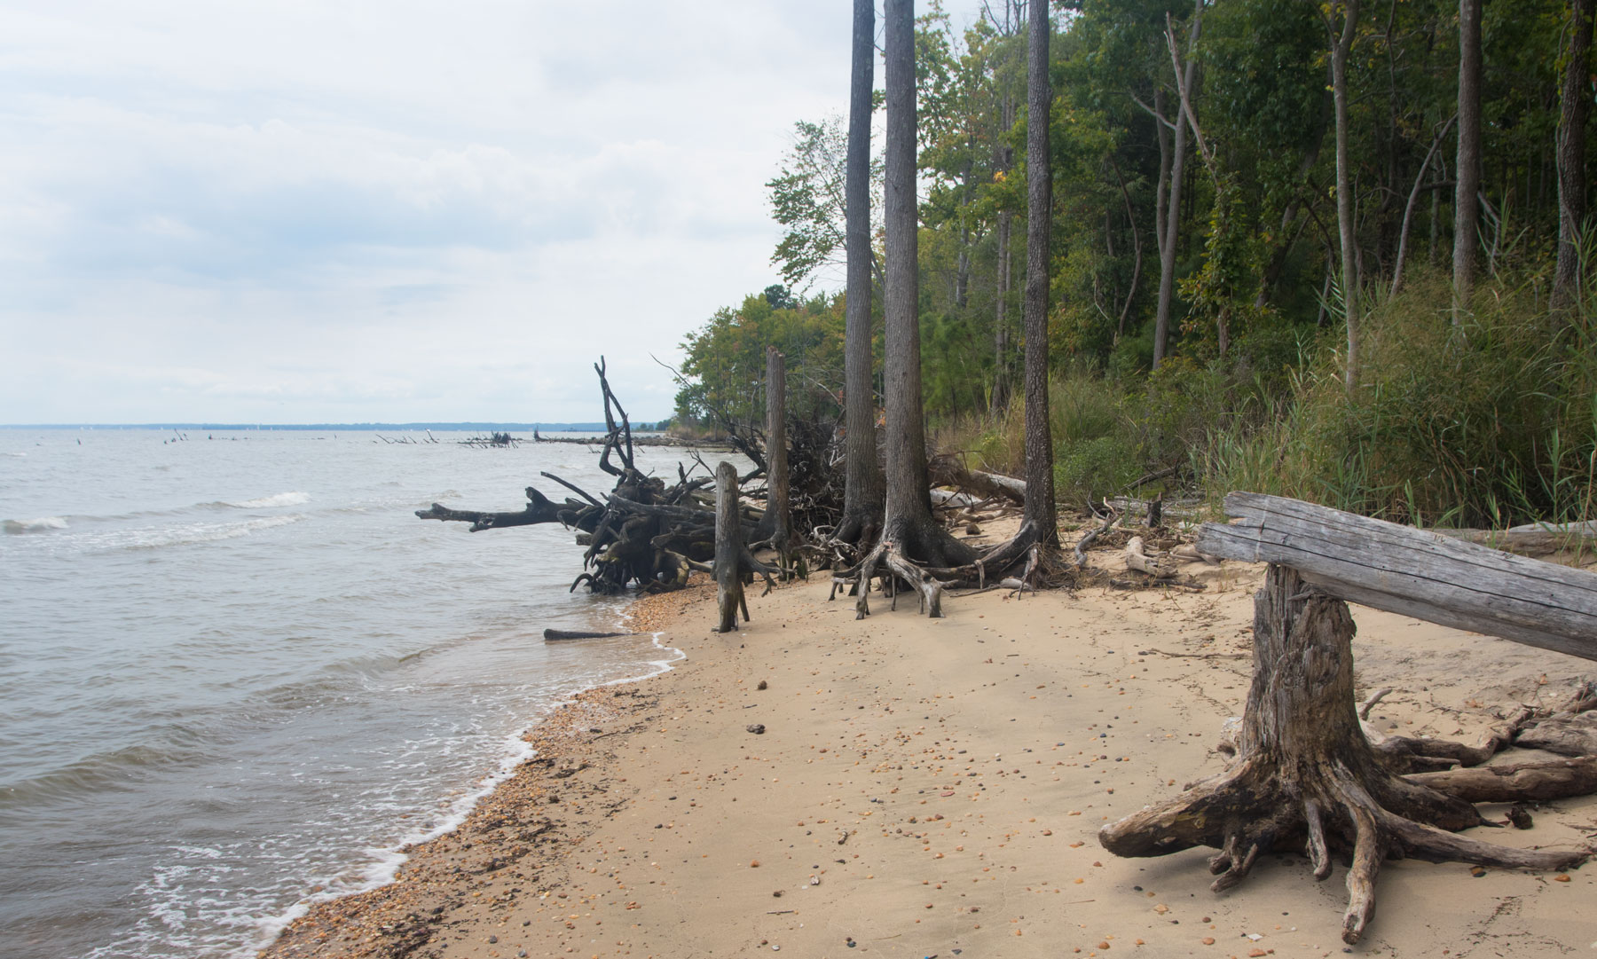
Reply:
[[[1059,547],[1054,504],[1054,437],[1048,421],[1048,233],[1052,223],[1052,168],[1048,126],[1054,99],[1048,81],[1048,3],[1032,0],[1025,126],[1025,520],[1044,547]]]

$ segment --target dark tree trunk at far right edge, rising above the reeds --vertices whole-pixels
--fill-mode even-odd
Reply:
[[[1592,0],[1571,0],[1559,112],[1559,265],[1552,273],[1552,310],[1565,321],[1579,295],[1579,239],[1586,223],[1586,85],[1592,45]]]

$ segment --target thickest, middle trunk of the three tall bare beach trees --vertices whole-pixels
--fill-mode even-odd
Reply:
[[[915,198],[915,3],[886,0],[886,519],[883,539],[933,566],[971,562],[931,519],[920,396],[920,263]]]

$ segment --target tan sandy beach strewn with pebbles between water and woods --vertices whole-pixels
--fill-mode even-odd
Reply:
[[[1094,560],[1110,554],[1092,554]],[[538,756],[398,881],[321,903],[264,953],[302,956],[1568,956],[1597,953],[1597,870],[1393,862],[1365,940],[1340,940],[1345,868],[1273,854],[1209,892],[1209,850],[1116,858],[1097,828],[1223,768],[1249,686],[1262,566],[1206,589],[953,595],[944,619],[824,574],[642,602],[687,659],[581,694]],[[1555,701],[1591,664],[1354,608],[1378,729],[1468,739]],[[604,641],[604,640],[594,640]],[[1541,753],[1511,750],[1508,758]],[[1485,807],[1490,819],[1503,809]],[[1597,799],[1546,803],[1493,841],[1589,847]],[[1479,831],[1479,830],[1477,830]]]

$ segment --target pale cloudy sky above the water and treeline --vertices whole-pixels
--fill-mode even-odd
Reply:
[[[653,357],[781,281],[765,182],[846,110],[850,18],[13,0],[0,423],[591,421],[599,356],[666,416]]]

